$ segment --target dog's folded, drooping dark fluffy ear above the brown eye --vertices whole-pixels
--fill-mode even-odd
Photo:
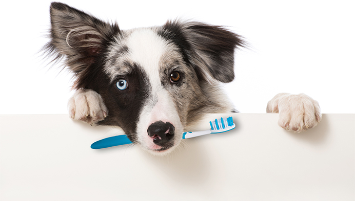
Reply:
[[[168,39],[180,46],[200,77],[220,82],[234,79],[234,49],[245,44],[241,36],[221,26],[191,21],[168,21],[163,29]]]

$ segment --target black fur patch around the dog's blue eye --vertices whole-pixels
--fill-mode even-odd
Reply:
[[[128,138],[135,142],[137,121],[141,108],[149,97],[151,85],[146,73],[137,64],[129,68],[131,69],[129,74],[117,76],[110,85],[108,85],[110,83],[108,76],[102,70],[91,71],[96,74],[90,75],[92,80],[88,86],[102,96],[109,110],[106,119],[98,124],[120,126]],[[125,79],[128,82],[126,90],[120,91],[116,87],[119,79]]]

